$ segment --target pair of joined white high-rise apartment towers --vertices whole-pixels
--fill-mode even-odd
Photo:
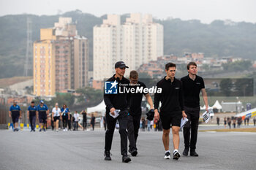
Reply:
[[[151,15],[131,14],[124,24],[120,15],[108,15],[102,25],[94,26],[94,80],[110,77],[116,61],[136,70],[162,55],[163,26]]]

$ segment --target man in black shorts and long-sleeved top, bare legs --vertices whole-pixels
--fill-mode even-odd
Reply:
[[[157,82],[157,92],[154,95],[154,118],[162,121],[162,142],[165,147],[165,159],[170,159],[169,134],[170,125],[173,132],[173,159],[178,160],[181,154],[178,152],[179,131],[181,118],[187,117],[184,112],[184,101],[182,83],[175,78],[176,64],[167,63],[165,65],[166,77]],[[162,89],[161,93],[158,89]],[[159,101],[161,101],[160,114],[158,112]]]

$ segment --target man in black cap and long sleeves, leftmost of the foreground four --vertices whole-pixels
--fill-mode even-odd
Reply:
[[[127,117],[128,117],[128,102],[129,102],[129,95],[128,93],[119,93],[118,88],[120,90],[124,91],[124,88],[128,88],[127,85],[129,85],[129,80],[124,78],[125,69],[129,68],[125,65],[123,61],[118,61],[115,64],[116,74],[113,75],[113,77],[110,77],[107,82],[105,82],[105,89],[107,83],[111,84],[111,89],[116,89],[116,93],[108,93],[107,90],[105,90],[104,94],[104,101],[106,104],[106,120],[108,129],[105,134],[105,161],[111,161],[110,158],[110,150],[111,150],[111,144],[113,139],[113,133],[116,126],[116,120],[118,120],[119,123],[119,134],[121,137],[121,155],[122,161],[124,163],[128,163],[131,161],[131,158],[127,155]],[[118,117],[114,118],[111,115],[115,115],[116,109],[119,109],[119,115]]]

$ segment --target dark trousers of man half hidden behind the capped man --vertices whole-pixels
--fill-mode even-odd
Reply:
[[[140,117],[141,115],[129,115],[127,122],[128,139],[129,139],[129,151],[138,150],[136,142],[138,139],[138,132],[140,129]]]

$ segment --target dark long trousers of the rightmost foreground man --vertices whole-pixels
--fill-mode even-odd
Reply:
[[[195,150],[197,144],[197,130],[200,108],[184,107],[184,110],[187,114],[187,119],[189,120],[183,128],[185,148],[189,149],[190,147],[190,150]]]

